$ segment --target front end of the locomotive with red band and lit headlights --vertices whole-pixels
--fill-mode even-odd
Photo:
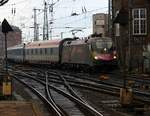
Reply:
[[[116,65],[117,53],[109,37],[97,37],[91,41],[93,62],[95,65]]]

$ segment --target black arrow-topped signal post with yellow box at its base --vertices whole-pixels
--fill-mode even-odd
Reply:
[[[8,32],[13,31],[9,23],[7,22],[6,19],[3,20],[2,22],[2,32],[5,35],[5,74],[2,79],[2,94],[4,96],[11,96],[12,95],[12,81],[11,77],[9,76],[8,73],[8,64],[7,64],[7,34]]]

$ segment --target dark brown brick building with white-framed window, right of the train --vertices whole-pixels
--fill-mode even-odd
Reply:
[[[150,0],[112,0],[113,37],[121,64],[150,69]]]

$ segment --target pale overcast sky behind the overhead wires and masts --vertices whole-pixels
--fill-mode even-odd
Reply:
[[[52,0],[47,2],[51,4]],[[10,24],[22,29],[23,37],[30,38],[28,39],[30,41],[33,39],[33,8],[43,9],[43,7],[43,0],[9,0],[0,7],[0,21],[6,18]],[[12,14],[12,9],[16,9],[15,14]],[[84,13],[85,11],[87,12]],[[61,32],[64,32],[64,36],[71,36],[70,30],[76,28],[83,29],[82,32],[77,33],[77,36],[89,35],[92,33],[92,14],[107,12],[108,0],[59,0],[54,5],[53,36],[59,37]],[[72,13],[79,15],[71,16]],[[37,18],[42,34],[43,11],[37,11]]]

